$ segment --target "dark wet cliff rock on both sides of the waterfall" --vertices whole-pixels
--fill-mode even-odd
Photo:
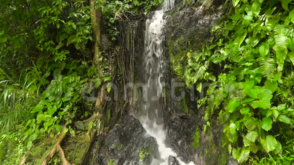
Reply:
[[[223,1],[192,2],[183,5],[175,2],[175,8],[165,13],[166,24],[165,53],[166,61],[163,89],[164,119],[167,140],[170,147],[185,162],[195,164],[235,164],[229,158],[227,147],[222,147],[222,126],[217,119],[210,123],[211,128],[204,132],[203,119],[205,110],[197,108],[200,94],[185,85],[172,91],[172,81],[183,83],[182,76],[189,50],[199,50],[208,42],[210,30],[222,15]],[[208,10],[209,9],[209,10]],[[131,18],[121,22],[121,34],[118,42],[120,63],[124,64],[123,85],[137,83],[143,69],[145,17]],[[123,65],[122,65],[123,66]],[[185,93],[182,99],[176,99]],[[127,89],[125,98],[129,101],[128,110],[116,121],[107,135],[96,138],[88,152],[87,164],[150,164],[156,155],[157,144],[146,132],[140,122],[133,116],[137,114],[138,98],[142,97],[140,89]],[[194,93],[194,95],[193,95]],[[191,95],[192,94],[192,95]],[[132,116],[131,116],[132,115]],[[170,164],[178,164],[170,157]]]

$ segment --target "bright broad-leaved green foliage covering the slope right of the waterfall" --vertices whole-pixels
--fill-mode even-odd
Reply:
[[[184,77],[188,87],[211,82],[198,107],[206,108],[206,120],[217,110],[235,159],[245,162],[250,153],[275,157],[293,138],[294,96],[287,89],[294,86],[287,75],[293,75],[294,6],[290,1],[232,3],[227,20],[212,30],[213,42],[188,53]],[[281,136],[280,127],[289,134]]]

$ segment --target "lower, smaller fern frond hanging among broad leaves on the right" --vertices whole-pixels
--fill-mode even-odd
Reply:
[[[273,58],[268,57],[267,59],[260,59],[260,68],[264,77],[267,79],[273,79],[276,74],[276,62]]]

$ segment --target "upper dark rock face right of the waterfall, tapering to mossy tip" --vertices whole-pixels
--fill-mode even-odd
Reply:
[[[211,4],[216,2],[218,1],[214,0]],[[208,42],[211,28],[220,17],[220,13],[219,6],[199,6],[196,2],[191,3],[191,7],[180,3],[166,13],[166,52],[170,58],[171,70],[176,76],[182,77],[185,72],[188,51],[202,49]]]

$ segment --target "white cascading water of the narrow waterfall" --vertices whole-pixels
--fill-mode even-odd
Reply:
[[[146,20],[145,50],[144,50],[144,79],[148,83],[143,91],[144,102],[141,103],[139,119],[147,132],[158,144],[159,155],[155,155],[152,165],[169,165],[169,156],[177,158],[179,163],[183,162],[178,155],[166,145],[166,131],[163,121],[162,82],[163,77],[163,27],[165,24],[164,12],[173,8],[174,0],[166,0],[161,10],[154,11],[152,19]],[[188,163],[194,164],[193,162]]]

